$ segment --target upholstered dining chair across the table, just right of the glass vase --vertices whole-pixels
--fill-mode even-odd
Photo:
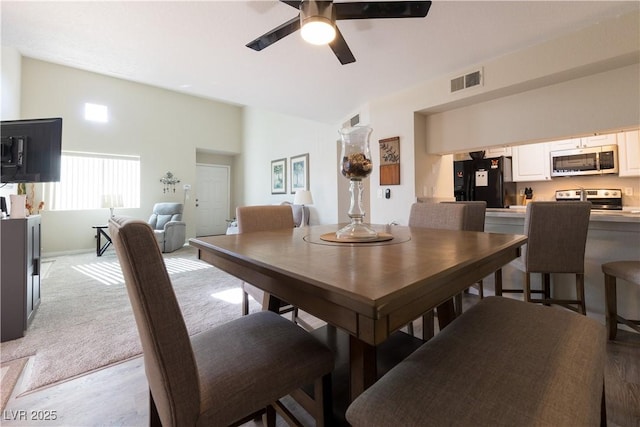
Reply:
[[[458,203],[414,203],[409,212],[409,227],[438,228],[443,230],[462,230],[467,205]],[[430,310],[422,316],[422,339],[434,336],[434,312]],[[413,323],[407,325],[413,335]]]

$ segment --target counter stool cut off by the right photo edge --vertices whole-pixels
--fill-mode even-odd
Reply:
[[[640,261],[613,261],[602,264],[604,273],[604,294],[607,304],[607,333],[610,340],[616,339],[618,323],[627,325],[640,333],[640,320],[625,319],[618,315],[616,301],[616,279],[640,285]]]

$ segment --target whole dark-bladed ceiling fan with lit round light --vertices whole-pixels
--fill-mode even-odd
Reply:
[[[291,33],[301,30],[302,38],[314,44],[329,44],[342,65],[356,61],[336,25],[342,19],[424,18],[431,1],[365,1],[334,3],[316,0],[280,0],[299,9],[295,18],[261,35],[247,44],[262,50]]]

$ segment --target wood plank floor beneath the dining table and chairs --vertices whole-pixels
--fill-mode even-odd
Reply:
[[[618,340],[607,344],[607,356],[608,425],[640,426],[640,335],[620,331]],[[141,357],[39,391],[20,393],[18,383],[2,413],[1,425],[148,425],[148,388]],[[285,403],[305,425],[313,425],[294,402]],[[43,419],[47,417],[48,420]],[[261,423],[247,424],[257,425]],[[278,425],[285,423],[278,419]]]

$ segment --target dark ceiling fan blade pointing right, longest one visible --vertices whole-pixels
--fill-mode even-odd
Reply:
[[[430,1],[334,3],[336,19],[424,18]]]

